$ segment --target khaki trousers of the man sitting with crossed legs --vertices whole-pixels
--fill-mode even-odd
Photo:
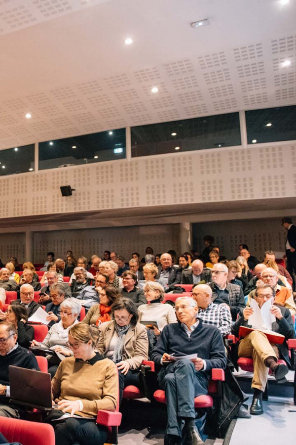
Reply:
[[[254,376],[252,379],[252,388],[260,391],[265,390],[269,368],[264,365],[267,357],[274,357],[277,361],[279,350],[276,345],[270,344],[263,332],[253,331],[239,342],[239,357],[253,358]]]

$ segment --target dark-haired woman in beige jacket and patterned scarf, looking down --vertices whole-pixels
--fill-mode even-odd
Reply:
[[[138,311],[129,298],[118,298],[111,306],[112,320],[101,324],[96,351],[111,358],[119,372],[119,400],[128,385],[141,387],[140,366],[148,359],[146,327],[138,323]]]

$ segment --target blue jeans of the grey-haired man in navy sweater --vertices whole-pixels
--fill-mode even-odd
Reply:
[[[160,371],[158,382],[167,402],[167,434],[181,437],[182,418],[195,419],[194,397],[208,394],[208,379],[208,375],[196,371],[188,359],[175,361]]]

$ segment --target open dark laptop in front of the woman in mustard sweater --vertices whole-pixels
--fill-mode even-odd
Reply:
[[[10,403],[49,411],[51,376],[47,372],[9,366]]]

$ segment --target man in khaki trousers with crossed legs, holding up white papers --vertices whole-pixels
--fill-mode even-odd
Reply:
[[[254,298],[261,309],[266,301],[274,298],[274,288],[268,284],[259,286],[256,289]],[[234,323],[232,330],[237,337],[240,326],[251,327],[248,325],[248,320],[252,313],[252,308],[245,308],[243,315]],[[271,307],[271,313],[276,318],[276,321],[271,325],[271,330],[285,336],[283,344],[275,345],[274,343],[270,343],[264,332],[254,330],[245,338],[241,339],[238,346],[238,356],[251,357],[254,362],[254,376],[252,379],[254,396],[250,408],[251,414],[263,413],[262,395],[267,383],[268,368],[272,370],[278,383],[284,383],[286,382],[285,375],[288,373],[288,368],[284,364],[278,364],[278,358],[284,359],[290,366],[286,340],[295,337],[294,321],[290,311],[281,306],[277,306],[274,301]]]

